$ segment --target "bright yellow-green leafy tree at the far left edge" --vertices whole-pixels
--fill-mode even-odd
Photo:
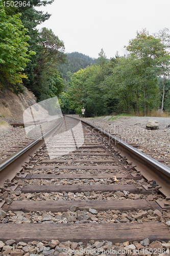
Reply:
[[[0,82],[1,86],[8,83],[8,89],[14,90],[22,78],[27,78],[22,71],[30,56],[36,53],[32,50],[28,52],[29,36],[21,23],[20,14],[7,15],[1,0],[0,8]]]

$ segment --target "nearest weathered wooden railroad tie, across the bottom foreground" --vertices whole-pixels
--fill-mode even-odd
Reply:
[[[51,241],[83,242],[94,241],[141,241],[148,238],[150,242],[169,240],[170,232],[164,223],[27,223],[0,224],[0,240],[14,239],[16,242]]]

